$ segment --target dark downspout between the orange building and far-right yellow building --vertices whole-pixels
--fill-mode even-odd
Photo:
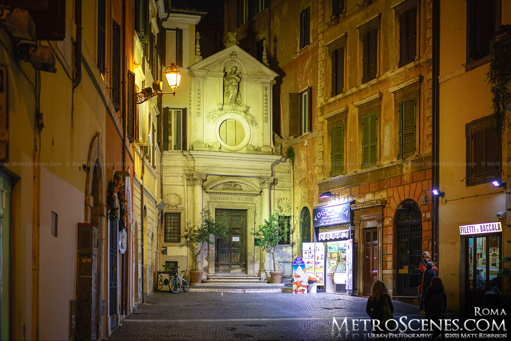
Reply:
[[[433,91],[432,91],[432,188],[438,188],[440,182],[439,174],[439,93],[440,86],[438,81],[439,76],[439,64],[440,64],[440,3],[439,0],[433,0],[433,60],[432,60],[432,77],[433,77]],[[432,212],[432,224],[431,224],[431,252],[433,261],[438,265],[438,201],[439,198],[436,196],[431,197],[431,212]]]

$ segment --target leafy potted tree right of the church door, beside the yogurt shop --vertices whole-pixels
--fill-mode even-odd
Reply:
[[[277,262],[275,260],[275,247],[281,241],[282,234],[286,235],[289,231],[287,225],[284,225],[284,228],[281,229],[281,223],[284,223],[282,216],[278,213],[270,213],[268,219],[264,220],[264,224],[259,225],[258,230],[252,233],[255,237],[260,238],[259,246],[266,252],[271,253],[273,260],[273,271],[270,271],[272,283],[281,283],[284,274],[282,271],[276,271]]]

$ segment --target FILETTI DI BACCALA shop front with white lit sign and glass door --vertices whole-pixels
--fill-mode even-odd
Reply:
[[[502,223],[482,223],[459,227],[464,245],[465,295],[468,311],[483,307],[487,290],[502,289],[497,277],[502,257]]]

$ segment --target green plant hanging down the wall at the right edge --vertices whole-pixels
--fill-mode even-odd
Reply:
[[[490,40],[490,71],[487,76],[492,86],[493,110],[497,123],[497,132],[504,136],[509,122],[509,106],[511,106],[511,25],[502,25],[495,37]]]

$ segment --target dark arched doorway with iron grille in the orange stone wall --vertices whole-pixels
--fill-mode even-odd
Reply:
[[[411,199],[396,208],[398,295],[416,296],[421,284],[422,212]]]

